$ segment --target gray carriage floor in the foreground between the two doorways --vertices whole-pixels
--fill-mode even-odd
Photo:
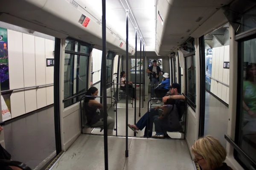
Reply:
[[[128,139],[108,137],[109,170],[194,170],[184,140]],[[59,159],[52,170],[103,170],[103,136],[81,135]]]

